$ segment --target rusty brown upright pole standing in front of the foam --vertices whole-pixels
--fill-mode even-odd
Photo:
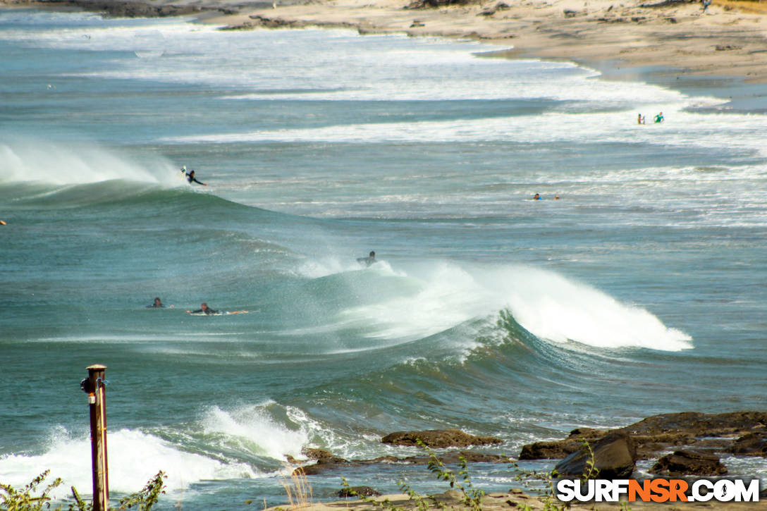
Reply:
[[[94,364],[87,367],[87,384],[91,409],[91,460],[93,461],[94,511],[109,511],[109,477],[107,473],[107,397],[104,393],[107,366]]]

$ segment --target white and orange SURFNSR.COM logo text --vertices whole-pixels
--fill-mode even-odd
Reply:
[[[561,479],[556,496],[562,502],[759,502],[759,480],[722,479]]]

